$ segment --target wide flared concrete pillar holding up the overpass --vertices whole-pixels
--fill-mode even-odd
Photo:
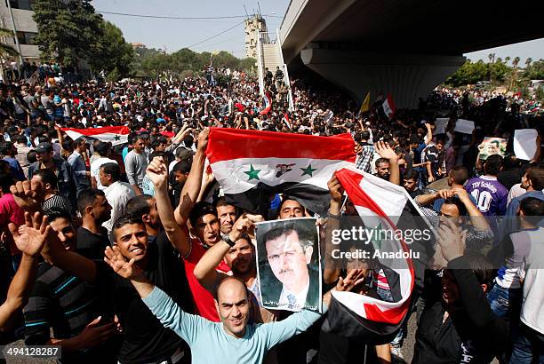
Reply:
[[[302,62],[325,79],[348,91],[357,100],[371,92],[371,104],[382,92],[391,93],[396,107],[417,107],[419,98],[452,75],[463,56],[372,53],[306,49]]]

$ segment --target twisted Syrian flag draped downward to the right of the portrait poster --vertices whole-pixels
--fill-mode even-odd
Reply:
[[[371,236],[372,257],[381,278],[391,290],[394,302],[354,292],[332,291],[326,332],[347,337],[360,337],[368,344],[384,344],[395,337],[410,309],[414,272],[410,250],[396,227],[409,200],[404,188],[353,167],[336,172],[336,177],[353,202],[364,227],[384,232]],[[379,254],[376,256],[376,252]],[[380,280],[381,283],[381,280]],[[380,285],[379,283],[379,285]]]

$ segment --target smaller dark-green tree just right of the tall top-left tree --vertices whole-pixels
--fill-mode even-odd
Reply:
[[[100,33],[89,59],[93,72],[104,71],[108,80],[116,81],[131,73],[134,51],[132,45],[124,41],[123,32],[109,21],[100,20]],[[113,78],[112,78],[113,77]]]

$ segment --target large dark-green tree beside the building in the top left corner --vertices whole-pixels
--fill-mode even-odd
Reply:
[[[38,29],[34,43],[43,58],[76,66],[97,54],[102,18],[91,0],[35,0],[32,6]]]

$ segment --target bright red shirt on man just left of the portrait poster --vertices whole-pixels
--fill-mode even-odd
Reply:
[[[191,239],[191,252],[188,257],[183,258],[183,263],[185,265],[185,273],[187,274],[187,281],[189,289],[191,289],[191,295],[193,296],[196,313],[204,317],[204,319],[219,322],[220,319],[217,310],[215,309],[212,294],[207,289],[204,289],[195,277],[196,263],[204,256],[205,252],[206,249],[204,249],[198,239]],[[224,261],[221,261],[220,265],[215,269],[222,273],[230,272],[230,268]]]

